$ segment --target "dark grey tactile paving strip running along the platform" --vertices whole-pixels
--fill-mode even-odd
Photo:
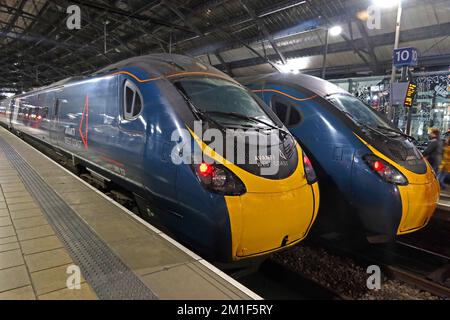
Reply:
[[[99,299],[154,300],[157,296],[3,138],[0,148],[41,206]]]

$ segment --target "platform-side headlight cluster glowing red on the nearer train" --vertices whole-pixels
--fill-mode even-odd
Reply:
[[[239,196],[247,192],[244,183],[221,164],[202,162],[194,165],[200,183],[208,190],[227,196]]]

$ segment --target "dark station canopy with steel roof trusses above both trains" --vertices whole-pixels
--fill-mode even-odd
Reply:
[[[329,77],[388,74],[397,7],[376,2],[0,0],[0,98],[162,52],[198,57],[232,76],[283,65],[320,75],[334,26],[342,32],[329,33]],[[71,5],[80,8],[79,30],[67,26]],[[402,6],[400,46],[419,50],[421,70],[448,68],[450,1],[403,0]]]

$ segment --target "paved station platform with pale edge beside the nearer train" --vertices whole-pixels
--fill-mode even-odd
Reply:
[[[260,297],[0,127],[5,299]]]

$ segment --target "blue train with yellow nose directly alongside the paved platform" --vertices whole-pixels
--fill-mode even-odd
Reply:
[[[136,57],[63,80],[3,101],[0,122],[214,261],[292,246],[317,215],[314,169],[295,138],[256,95],[192,58]],[[213,149],[203,136],[211,129],[249,138],[244,158],[254,161]],[[279,139],[265,146],[279,153],[259,153],[268,135]],[[200,161],[189,161],[196,149]]]

